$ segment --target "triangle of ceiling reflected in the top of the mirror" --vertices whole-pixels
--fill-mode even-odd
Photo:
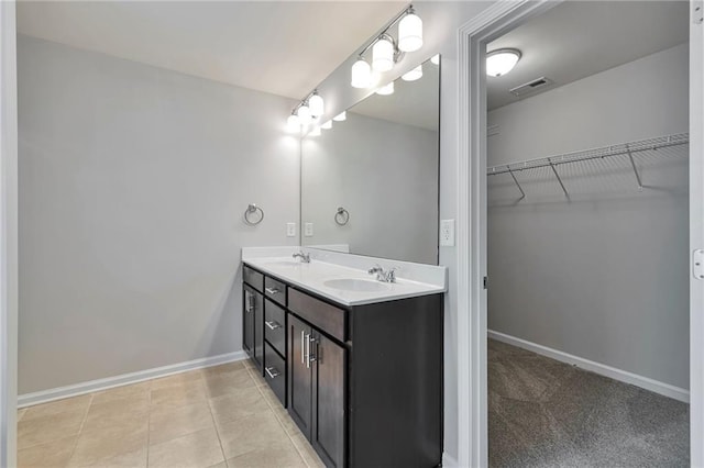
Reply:
[[[350,112],[437,132],[440,111],[440,67],[427,60],[416,81],[394,81],[394,93],[371,94]]]

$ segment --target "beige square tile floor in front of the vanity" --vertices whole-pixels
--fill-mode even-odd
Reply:
[[[249,361],[22,409],[20,467],[322,467]]]

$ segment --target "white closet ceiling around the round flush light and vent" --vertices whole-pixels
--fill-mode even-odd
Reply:
[[[536,78],[552,79],[549,91],[688,40],[686,1],[566,1],[488,44],[522,57],[509,74],[487,77],[487,107],[518,101],[508,90]]]

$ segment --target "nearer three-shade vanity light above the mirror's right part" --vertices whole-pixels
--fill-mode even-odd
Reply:
[[[391,35],[391,29],[398,23],[398,42]],[[380,35],[362,48],[358,60],[352,65],[351,85],[353,88],[370,88],[372,70],[382,74],[394,68],[406,52],[415,52],[422,47],[422,21],[413,5],[396,15]],[[372,66],[364,54],[372,49]]]

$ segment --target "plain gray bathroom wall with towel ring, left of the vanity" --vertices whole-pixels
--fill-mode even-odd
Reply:
[[[241,349],[240,247],[298,243],[293,102],[25,36],[18,56],[20,393]]]

